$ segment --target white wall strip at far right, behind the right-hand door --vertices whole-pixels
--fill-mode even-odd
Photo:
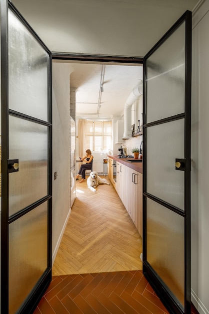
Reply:
[[[199,313],[209,313],[209,0],[192,18],[191,288]]]

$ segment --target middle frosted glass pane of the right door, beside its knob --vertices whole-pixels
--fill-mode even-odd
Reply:
[[[184,173],[175,158],[184,155],[184,119],[147,129],[147,193],[184,210]],[[152,152],[155,152],[152,154]]]

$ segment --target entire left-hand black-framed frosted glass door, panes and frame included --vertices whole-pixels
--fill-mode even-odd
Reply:
[[[51,53],[9,1],[0,6],[1,313],[29,313],[51,280]]]

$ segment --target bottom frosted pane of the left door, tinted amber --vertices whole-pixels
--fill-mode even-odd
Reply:
[[[48,203],[9,225],[9,313],[15,313],[47,267]]]

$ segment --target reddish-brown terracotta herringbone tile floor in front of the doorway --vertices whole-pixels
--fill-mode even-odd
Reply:
[[[142,271],[62,275],[52,281],[35,314],[165,314]],[[192,306],[191,313],[198,314]]]

